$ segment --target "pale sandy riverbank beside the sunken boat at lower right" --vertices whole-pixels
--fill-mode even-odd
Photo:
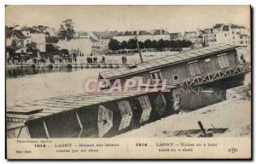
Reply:
[[[231,90],[241,91],[237,88]],[[116,137],[173,137],[175,131],[200,129],[199,121],[206,129],[228,128],[225,133],[214,133],[213,137],[250,137],[251,100],[247,95],[246,97],[241,96],[240,93],[233,92],[230,95],[227,100],[218,104],[209,105],[189,113],[167,116]]]

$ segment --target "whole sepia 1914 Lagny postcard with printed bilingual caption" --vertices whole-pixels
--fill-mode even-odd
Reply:
[[[6,156],[251,159],[251,7],[5,7]]]

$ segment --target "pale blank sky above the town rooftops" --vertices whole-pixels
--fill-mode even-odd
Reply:
[[[250,27],[249,6],[7,6],[6,25],[47,25],[72,19],[76,31],[194,31],[216,23]]]

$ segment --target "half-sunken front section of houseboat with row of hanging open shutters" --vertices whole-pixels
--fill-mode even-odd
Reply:
[[[98,138],[174,114],[172,90],[84,93],[7,106],[7,138]]]

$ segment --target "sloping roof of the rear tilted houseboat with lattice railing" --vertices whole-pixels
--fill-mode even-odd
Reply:
[[[189,52],[181,54],[172,54],[170,56],[150,60],[142,64],[138,64],[135,68],[121,68],[111,71],[103,71],[99,73],[100,78],[104,79],[115,79],[123,76],[134,75],[143,71],[150,71],[156,68],[165,67],[168,65],[175,65],[192,59],[198,59],[207,55],[219,53],[225,50],[236,48],[236,46],[230,44],[217,44],[212,47],[198,48]]]

